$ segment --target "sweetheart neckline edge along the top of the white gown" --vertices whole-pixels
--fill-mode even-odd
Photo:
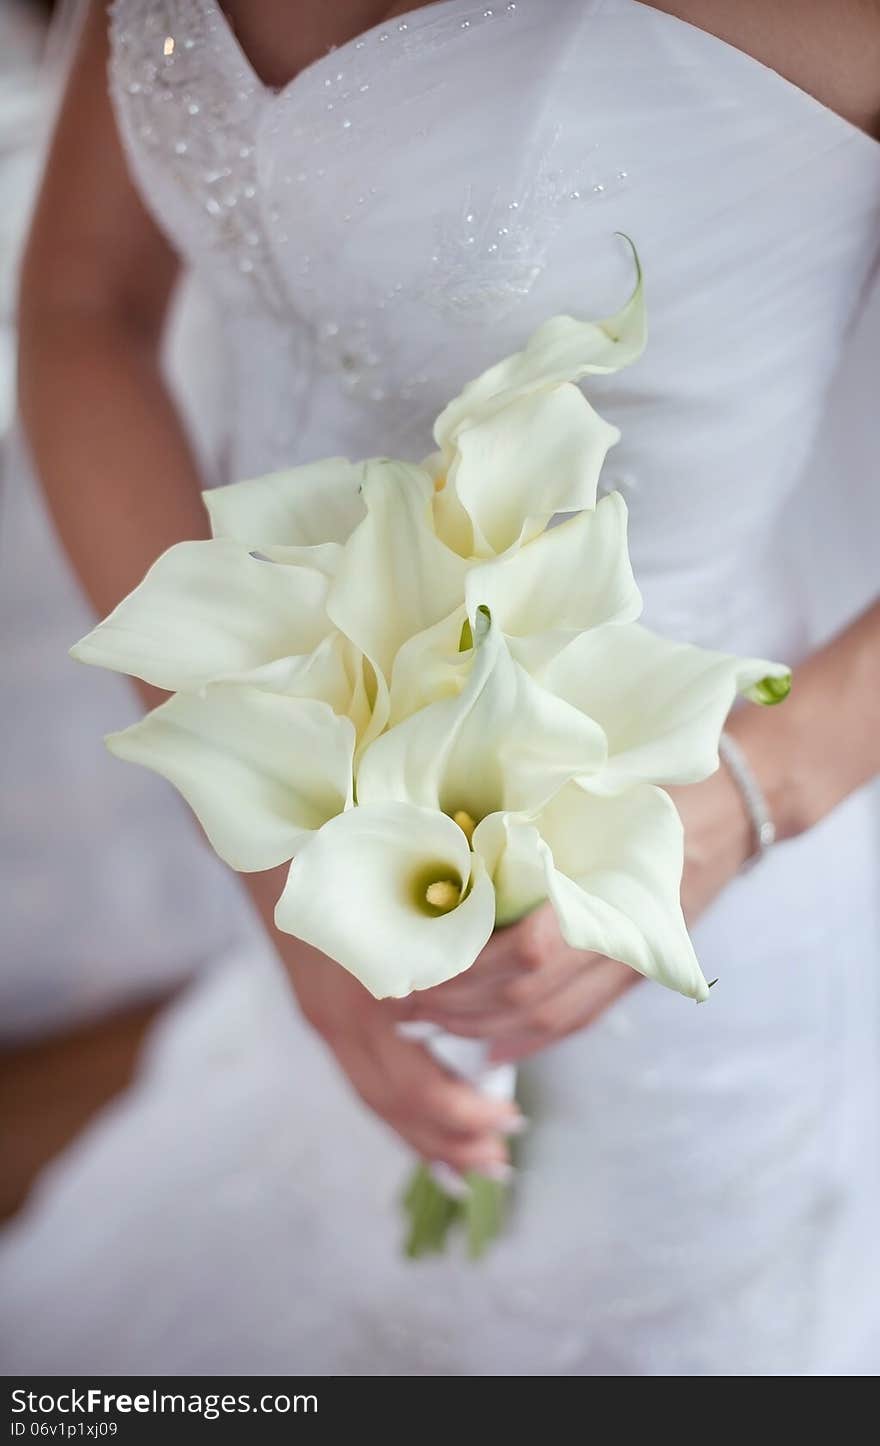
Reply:
[[[364,43],[368,43],[371,39],[377,39],[383,30],[387,30],[389,38],[392,35],[405,35],[405,33],[409,35],[410,32],[416,30],[419,25],[436,19],[436,16],[441,12],[454,10],[457,6],[462,3],[462,0],[432,0],[432,3],[418,6],[415,10],[405,10],[400,14],[392,16],[387,20],[380,20],[377,22],[377,25],[371,25],[366,30],[361,30],[358,35],[351,36],[351,39],[344,40],[341,45],[332,46],[322,55],[315,56],[314,61],[309,61],[308,65],[303,65],[299,71],[296,71],[296,74],[292,75],[285,85],[277,85],[277,87],[267,85],[266,81],[259,75],[253,61],[244,51],[241,42],[238,40],[233,22],[227,16],[220,0],[207,0],[207,3],[214,12],[221,26],[225,42],[230,45],[231,49],[234,49],[236,56],[238,62],[246,68],[249,78],[253,81],[256,88],[267,98],[267,101],[273,103],[290,97],[296,90],[301,90],[305,85],[308,85],[315,75],[319,75],[325,65],[331,62],[340,64],[347,55],[351,54],[351,51],[360,49]],[[473,4],[473,0],[467,0],[467,3]],[[802,106],[811,107],[819,114],[827,116],[829,123],[838,126],[842,130],[842,133],[848,136],[854,143],[868,147],[877,158],[880,158],[880,139],[871,136],[867,130],[863,130],[861,126],[857,126],[845,116],[841,116],[840,111],[832,110],[829,106],[825,106],[825,103],[821,101],[816,95],[812,95],[809,91],[805,91],[801,85],[795,84],[795,81],[790,81],[786,75],[782,75],[780,71],[775,71],[772,65],[766,65],[763,61],[759,61],[757,56],[750,55],[749,51],[743,51],[737,45],[731,45],[730,40],[724,40],[720,35],[714,35],[711,30],[705,30],[702,29],[702,26],[694,25],[691,20],[682,20],[679,16],[670,14],[669,10],[659,10],[656,6],[647,3],[647,0],[611,0],[611,4],[620,4],[623,7],[633,7],[636,10],[650,12],[652,16],[659,16],[660,25],[668,23],[670,26],[679,26],[683,27],[685,30],[694,32],[695,35],[701,36],[701,43],[718,48],[718,51],[730,52],[733,56],[737,58],[737,64],[746,65],[750,69],[754,69],[757,72],[763,71],[766,75],[772,77],[772,82],[776,84],[780,90],[786,90]],[[591,9],[598,16],[607,6],[608,0],[592,0]],[[516,9],[516,6],[507,4],[504,6],[504,9],[513,10]]]

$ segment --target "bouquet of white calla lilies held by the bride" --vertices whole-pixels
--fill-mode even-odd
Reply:
[[[639,275],[617,315],[553,317],[470,382],[419,466],[208,492],[212,539],[172,547],[72,649],[173,694],[111,752],[171,779],[234,869],[293,860],[277,927],[377,998],[460,975],[548,899],[575,949],[707,996],[663,785],[711,774],[737,691],[775,703],[789,674],[636,620],[626,506],[597,502],[618,432],[575,383],[643,346]],[[500,1187],[441,1180],[416,1173],[410,1252],[460,1216],[478,1251]]]

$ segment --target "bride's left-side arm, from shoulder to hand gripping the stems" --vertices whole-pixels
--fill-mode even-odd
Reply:
[[[95,0],[53,137],[19,305],[25,429],[64,547],[100,615],[165,548],[207,535],[198,467],[159,363],[178,260],[129,179],[105,68],[105,4]],[[150,703],[162,697],[146,687],[143,694]],[[458,1168],[501,1163],[497,1126],[509,1108],[451,1080],[422,1048],[397,1038],[392,1006],[279,934],[272,911],[282,882],[282,870],[247,881],[303,1012],[360,1095],[428,1158]]]

